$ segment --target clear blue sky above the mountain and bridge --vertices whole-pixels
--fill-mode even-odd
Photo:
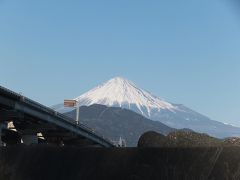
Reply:
[[[240,125],[234,0],[0,0],[0,84],[45,105],[123,76]]]

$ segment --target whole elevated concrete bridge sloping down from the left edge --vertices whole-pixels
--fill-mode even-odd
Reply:
[[[21,143],[114,147],[74,119],[0,86],[0,145]]]

